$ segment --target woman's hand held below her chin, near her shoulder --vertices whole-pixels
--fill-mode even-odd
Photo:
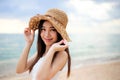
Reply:
[[[61,40],[58,43],[54,43],[51,48],[56,51],[64,51],[66,48],[68,48],[68,44],[66,40]]]

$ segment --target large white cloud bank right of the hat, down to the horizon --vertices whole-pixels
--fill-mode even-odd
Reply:
[[[115,15],[115,2],[96,3],[92,0],[69,0],[69,33],[78,34],[111,34],[120,33],[120,18]],[[110,15],[113,12],[114,15]]]

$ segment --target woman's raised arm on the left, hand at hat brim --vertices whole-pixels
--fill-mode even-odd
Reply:
[[[30,65],[32,64],[36,54],[28,61],[28,55],[30,48],[32,46],[34,40],[34,31],[30,30],[29,28],[25,28],[24,35],[26,39],[26,45],[23,49],[23,52],[20,56],[20,59],[17,64],[16,72],[22,73],[29,69]]]

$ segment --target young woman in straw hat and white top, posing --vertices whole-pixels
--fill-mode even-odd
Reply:
[[[57,80],[57,74],[68,62],[69,77],[71,58],[67,45],[70,41],[66,32],[67,22],[67,15],[59,9],[50,9],[45,15],[32,17],[29,27],[24,30],[26,45],[16,72],[29,70],[32,80]],[[36,29],[38,29],[37,52],[28,60]]]

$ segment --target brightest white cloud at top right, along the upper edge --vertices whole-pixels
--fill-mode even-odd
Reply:
[[[97,4],[92,0],[81,1],[81,0],[70,0],[68,3],[75,12],[81,16],[87,16],[88,18],[95,20],[106,20],[109,19],[108,12],[114,6],[114,3],[101,3]],[[69,7],[70,7],[69,6]]]

